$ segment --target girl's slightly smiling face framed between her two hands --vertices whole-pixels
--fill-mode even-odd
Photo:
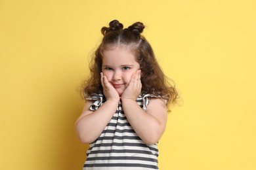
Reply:
[[[131,77],[140,69],[135,56],[127,46],[117,46],[111,50],[104,50],[102,58],[102,73],[108,82],[121,96],[127,88]]]

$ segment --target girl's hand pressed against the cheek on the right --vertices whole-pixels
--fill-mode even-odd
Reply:
[[[121,95],[121,99],[132,99],[133,101],[136,101],[136,99],[140,95],[141,88],[142,88],[142,84],[140,81],[140,73],[141,73],[141,70],[139,69],[131,77],[129,85]]]

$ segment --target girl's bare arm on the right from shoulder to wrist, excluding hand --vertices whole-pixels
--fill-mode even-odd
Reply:
[[[163,135],[167,122],[167,108],[163,99],[151,98],[146,112],[132,99],[122,99],[127,120],[146,144],[155,144]]]

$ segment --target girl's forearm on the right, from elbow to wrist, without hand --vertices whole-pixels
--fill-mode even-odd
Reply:
[[[136,101],[123,99],[122,107],[127,120],[144,143],[154,144],[160,140],[165,125],[161,124],[151,114],[142,110]]]

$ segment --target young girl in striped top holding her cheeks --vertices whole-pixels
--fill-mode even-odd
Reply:
[[[158,169],[157,144],[177,92],[140,35],[141,22],[125,29],[117,20],[109,25],[101,29],[75,123],[79,139],[90,144],[83,170]]]

